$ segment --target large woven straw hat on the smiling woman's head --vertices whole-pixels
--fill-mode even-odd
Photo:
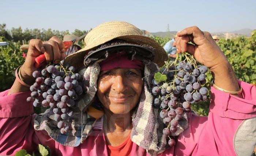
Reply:
[[[127,22],[112,21],[100,24],[91,30],[84,38],[85,47],[65,58],[64,64],[75,66],[76,69],[84,66],[84,57],[88,52],[112,39],[123,39],[132,44],[152,46],[155,53],[153,62],[159,67],[163,66],[165,64],[164,61],[168,59],[163,47],[153,39],[143,36],[139,28]]]

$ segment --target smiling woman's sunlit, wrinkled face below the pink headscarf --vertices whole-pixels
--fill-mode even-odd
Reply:
[[[97,96],[105,109],[125,114],[138,104],[142,87],[140,69],[114,68],[100,72]]]

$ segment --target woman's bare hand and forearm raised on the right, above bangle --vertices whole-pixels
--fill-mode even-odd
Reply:
[[[185,28],[177,33],[173,46],[176,46],[177,53],[190,53],[207,66],[218,87],[228,91],[240,90],[232,66],[209,32],[203,32],[196,26]]]

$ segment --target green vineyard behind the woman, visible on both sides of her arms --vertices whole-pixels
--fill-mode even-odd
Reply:
[[[79,36],[79,34],[77,35]],[[5,37],[0,37],[0,42],[8,41],[8,37],[3,36]],[[11,38],[8,39],[11,40]],[[170,38],[155,37],[154,40],[164,46]],[[12,39],[12,41],[8,41],[9,45],[0,47],[0,91],[7,90],[12,86],[15,80],[15,69],[25,60],[26,51],[20,49],[21,41]],[[220,39],[218,45],[233,66],[237,79],[256,85],[256,30],[249,38]],[[206,76],[207,83],[204,87],[210,90],[211,73],[208,71]],[[192,105],[192,109],[199,115],[207,115],[208,107],[209,100]]]

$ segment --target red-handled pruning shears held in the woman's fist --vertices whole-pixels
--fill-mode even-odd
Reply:
[[[64,41],[64,45],[65,45],[65,50],[67,51],[69,47],[71,47],[76,41],[79,41],[80,39],[84,38],[87,35],[84,34],[78,38],[72,39],[71,41]],[[39,55],[37,58],[35,58],[35,68],[39,68],[40,66],[44,65],[45,63],[45,55],[41,54]]]

